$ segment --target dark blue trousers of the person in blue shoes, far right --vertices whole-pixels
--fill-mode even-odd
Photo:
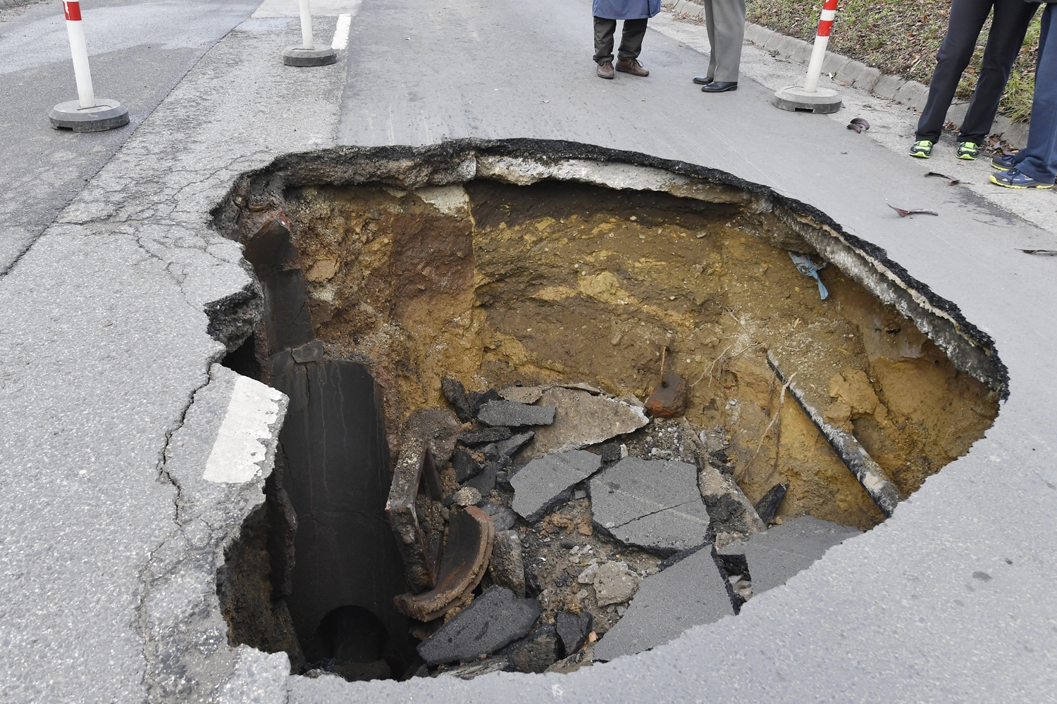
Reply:
[[[1026,3],[1025,3],[1026,4]],[[1042,11],[1039,62],[1035,70],[1032,127],[1027,147],[1017,152],[1017,170],[1035,180],[1052,184],[1057,177],[1057,5]]]

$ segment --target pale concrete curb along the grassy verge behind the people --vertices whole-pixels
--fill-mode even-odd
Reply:
[[[705,8],[693,0],[665,0],[662,5],[682,17],[704,21]],[[785,36],[760,24],[745,23],[745,41],[797,63],[806,64],[811,58],[811,42]],[[925,101],[928,100],[928,85],[915,80],[905,80],[900,76],[883,74],[878,69],[868,66],[861,61],[832,52],[826,53],[822,73],[831,75],[836,81],[870,91],[878,98],[894,100],[917,112],[925,108]],[[951,103],[947,111],[947,120],[960,125],[968,109],[967,101]],[[1004,115],[998,115],[991,125],[991,134],[1001,136],[1015,149],[1023,149],[1027,144],[1030,126],[1031,122],[1017,122]]]

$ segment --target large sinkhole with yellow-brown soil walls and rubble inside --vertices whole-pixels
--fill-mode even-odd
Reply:
[[[291,398],[267,501],[219,578],[233,645],[348,680],[642,650],[692,625],[641,616],[680,578],[721,590],[693,623],[737,613],[777,586],[753,579],[752,540],[869,530],[886,513],[864,483],[908,496],[997,416],[986,338],[817,213],[707,174],[626,165],[611,187],[602,166],[466,158],[476,173],[432,183],[425,157],[330,180],[288,166],[219,210],[264,301],[225,363]],[[638,172],[661,186],[629,187]],[[533,473],[576,452],[597,462],[525,509],[550,481]],[[422,554],[386,512],[405,458]],[[678,506],[646,495],[661,484]],[[643,537],[601,516],[609,495],[679,511]],[[514,606],[492,604],[502,590]],[[460,649],[482,623],[497,640]]]

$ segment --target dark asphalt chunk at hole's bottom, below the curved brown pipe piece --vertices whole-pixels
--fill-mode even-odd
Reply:
[[[522,638],[538,617],[535,600],[518,598],[509,589],[492,587],[419,644],[419,655],[427,665],[468,663]]]

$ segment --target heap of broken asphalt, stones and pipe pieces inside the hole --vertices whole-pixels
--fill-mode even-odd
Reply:
[[[680,416],[678,375],[647,404],[588,384],[441,388],[451,410],[405,424],[386,506],[416,676],[639,652],[737,614],[858,533],[811,516],[767,530],[725,471],[723,429]],[[785,488],[759,502],[768,521]]]

